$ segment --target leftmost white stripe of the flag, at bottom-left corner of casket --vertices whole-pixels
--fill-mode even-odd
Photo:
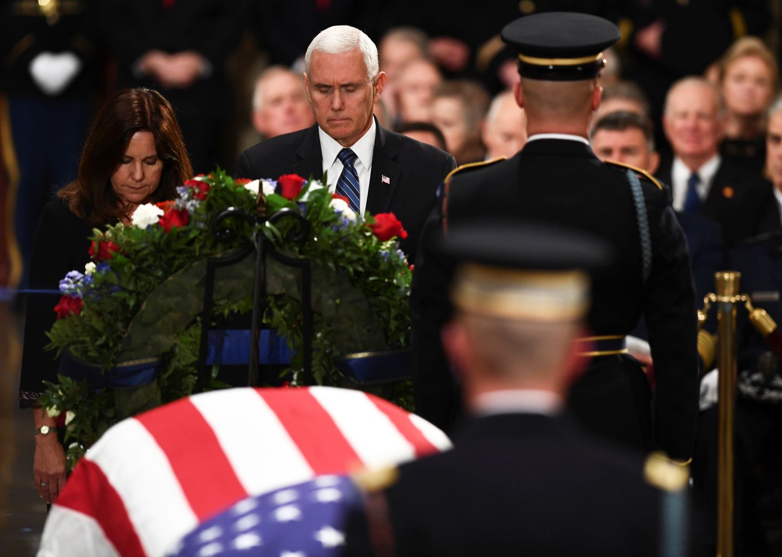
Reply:
[[[86,555],[120,557],[94,518],[55,503],[46,515],[37,557]]]

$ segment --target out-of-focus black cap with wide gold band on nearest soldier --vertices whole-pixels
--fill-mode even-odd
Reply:
[[[439,250],[457,262],[458,309],[547,323],[583,318],[590,273],[610,258],[608,244],[583,233],[496,221],[452,225]]]

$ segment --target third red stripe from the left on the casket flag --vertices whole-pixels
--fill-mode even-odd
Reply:
[[[348,473],[361,458],[331,414],[305,389],[256,389],[296,443],[316,476]]]

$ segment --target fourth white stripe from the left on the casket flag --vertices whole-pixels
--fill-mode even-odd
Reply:
[[[361,391],[310,387],[364,466],[393,466],[415,458],[415,448]]]

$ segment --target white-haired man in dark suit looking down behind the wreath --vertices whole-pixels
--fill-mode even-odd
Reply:
[[[377,123],[386,74],[366,34],[338,25],[321,31],[305,55],[304,84],[317,124],[283,134],[239,155],[236,174],[274,178],[327,175],[332,191],[350,198],[356,212],[393,212],[407,238],[400,246],[413,261],[436,190],[454,169],[454,157]]]

